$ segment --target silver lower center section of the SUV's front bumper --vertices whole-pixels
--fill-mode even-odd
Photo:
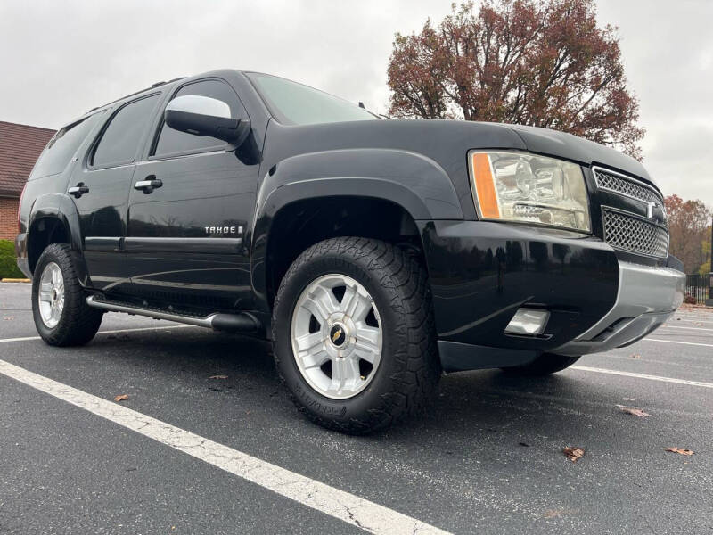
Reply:
[[[627,346],[652,333],[684,302],[685,275],[619,261],[619,292],[611,310],[571,342],[553,349],[578,356]]]

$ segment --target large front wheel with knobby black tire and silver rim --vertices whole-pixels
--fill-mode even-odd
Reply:
[[[333,373],[332,366],[339,366],[338,357],[329,358],[329,364],[325,361],[319,369],[317,366],[307,369],[307,360],[300,358],[298,361],[295,357],[295,349],[298,354],[305,354],[299,350],[296,335],[302,325],[304,309],[307,309],[307,305],[298,306],[303,302],[305,292],[315,288],[315,292],[319,290],[322,292],[320,295],[325,295],[323,285],[336,284],[334,281],[340,280],[346,281],[345,290],[341,298],[335,296],[335,300],[340,300],[340,310],[346,309],[348,314],[345,313],[342,320],[339,320],[339,310],[333,315],[338,321],[347,322],[344,326],[347,342],[334,342],[333,334],[337,333],[334,329],[340,325],[332,325],[331,319],[324,320],[323,317],[318,325],[313,326],[316,316],[311,315],[309,328],[316,329],[313,334],[321,337],[321,341],[315,344],[315,351],[322,357],[324,352],[335,351],[332,347],[334,343],[344,344],[337,346],[336,351],[343,349],[343,354],[350,354],[351,357],[341,358],[341,362],[352,362],[349,358],[354,358],[356,350],[349,353],[352,346],[348,344],[354,343],[356,348],[361,342],[355,341],[365,340],[361,338],[362,328],[380,331],[381,353],[377,364],[368,370],[371,363],[365,365],[363,360],[359,360],[357,375],[361,376],[351,383],[338,381],[339,378]],[[338,291],[339,286],[335,286],[332,295]],[[362,291],[368,295],[357,295]],[[351,292],[349,298],[347,292]],[[329,299],[332,300],[332,297]],[[345,302],[347,299],[348,303]],[[351,302],[355,300],[358,303],[351,307]],[[364,317],[365,306],[370,306],[370,303],[373,306],[372,312],[369,312],[373,314],[371,323],[369,316],[364,321],[357,321],[358,317]],[[353,324],[348,323],[352,320]],[[322,330],[325,322],[327,327],[332,325],[331,331]],[[316,243],[302,252],[280,284],[272,325],[275,364],[283,384],[299,411],[327,429],[349,434],[386,429],[398,420],[414,415],[430,399],[438,384],[441,369],[426,271],[413,255],[389,243],[341,237]],[[324,333],[328,334],[324,336]],[[374,342],[369,347],[376,345]],[[359,352],[362,353],[368,351]],[[375,354],[375,351],[369,353],[371,357]],[[362,371],[363,365],[367,366],[365,372]],[[304,373],[300,371],[300,366],[305,368]],[[341,366],[344,366],[341,369],[349,367]],[[329,387],[320,389],[317,386],[320,381],[326,384],[320,373],[327,377],[327,382],[332,381]],[[340,390],[332,388],[335,381]]]

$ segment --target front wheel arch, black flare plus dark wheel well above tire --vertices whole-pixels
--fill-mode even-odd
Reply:
[[[250,236],[258,309],[272,309],[284,272],[310,245],[359,235],[403,239],[422,253],[415,221],[439,218],[462,219],[463,212],[446,172],[419,154],[358,149],[281,161],[260,187]]]

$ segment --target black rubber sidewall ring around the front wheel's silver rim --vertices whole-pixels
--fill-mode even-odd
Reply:
[[[307,261],[291,276],[286,276],[281,284],[280,299],[275,308],[274,336],[278,371],[299,405],[318,418],[324,417],[337,422],[363,421],[379,412],[379,407],[388,405],[393,399],[395,377],[403,370],[397,358],[393,358],[407,346],[407,335],[396,328],[399,315],[405,315],[406,310],[392,300],[387,292],[390,285],[388,279],[378,279],[375,270],[362,265],[360,259],[346,259],[344,254],[327,254]],[[350,276],[365,287],[373,298],[379,311],[381,327],[381,362],[374,372],[374,377],[364,391],[349,399],[331,399],[313,390],[299,372],[291,344],[292,313],[300,294],[316,278],[328,274]],[[393,290],[392,290],[393,292]]]

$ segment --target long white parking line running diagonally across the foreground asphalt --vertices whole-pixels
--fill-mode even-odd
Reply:
[[[237,449],[228,448],[193,432],[145,416],[107,399],[79,391],[43,375],[0,360],[0,374],[38,391],[102,416],[115,424],[142,434],[170,448],[182,451],[251,481],[285,498],[312,507],[346,523],[371,533],[447,533],[415,518],[375,504],[354,494],[335,489],[299,473],[252,457]]]

